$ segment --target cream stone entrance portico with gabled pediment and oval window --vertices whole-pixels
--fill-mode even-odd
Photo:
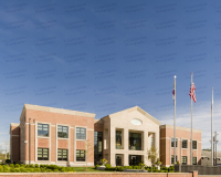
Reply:
[[[102,118],[104,154],[112,166],[150,165],[147,149],[159,149],[159,125],[155,117],[135,106]]]

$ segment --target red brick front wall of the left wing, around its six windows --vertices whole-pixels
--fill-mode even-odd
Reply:
[[[71,154],[70,160],[74,162],[73,159],[73,154],[74,152],[74,128],[77,126],[86,127],[87,128],[87,139],[90,144],[92,145],[92,150],[94,153],[94,117],[85,117],[85,116],[77,116],[77,115],[69,115],[69,114],[61,114],[61,113],[52,113],[52,112],[43,112],[43,111],[35,111],[35,110],[27,110],[25,111],[25,117],[31,118],[31,160],[35,160],[35,122],[42,122],[42,123],[49,123],[50,124],[50,129],[51,129],[51,162],[55,162],[56,157],[56,124],[59,125],[67,125],[70,126],[70,149],[69,149],[69,140],[64,139],[57,139],[57,148],[62,149],[69,149],[69,153]],[[25,131],[23,132],[24,134],[24,139],[29,140],[29,118],[25,118],[25,122],[23,124],[25,125]],[[25,124],[27,123],[27,124]],[[38,138],[38,147],[50,147],[49,143],[50,138]],[[85,143],[80,144],[81,149],[85,149]],[[82,148],[84,146],[84,148]],[[38,148],[36,147],[36,148]],[[76,147],[78,145],[76,144]],[[23,152],[25,156],[25,160],[29,160],[29,145],[24,145]],[[94,155],[90,156],[88,163],[94,162]]]

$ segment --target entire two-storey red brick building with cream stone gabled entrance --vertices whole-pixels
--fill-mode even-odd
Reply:
[[[24,164],[137,165],[155,146],[162,166],[173,163],[173,126],[138,106],[95,119],[95,114],[24,104],[20,123],[10,125],[10,159]],[[177,160],[190,164],[190,128],[176,127]],[[193,129],[193,164],[201,164],[201,131]],[[86,149],[88,147],[88,152]]]

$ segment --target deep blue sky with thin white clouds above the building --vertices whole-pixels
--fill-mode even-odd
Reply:
[[[162,124],[193,128],[209,148],[221,121],[220,1],[1,1],[0,144],[24,103],[95,113],[140,106]],[[219,139],[219,136],[218,136]],[[221,145],[218,145],[220,150]]]

